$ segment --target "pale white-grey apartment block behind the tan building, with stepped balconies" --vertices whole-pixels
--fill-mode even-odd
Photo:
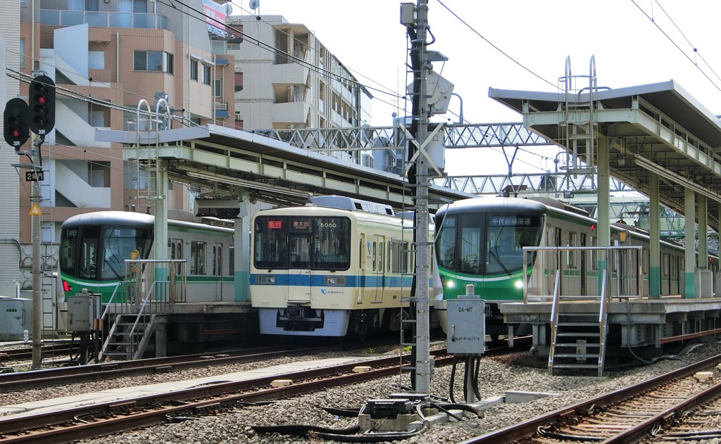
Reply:
[[[278,15],[227,17],[236,77],[235,125],[245,130],[369,125],[371,93],[305,25]]]

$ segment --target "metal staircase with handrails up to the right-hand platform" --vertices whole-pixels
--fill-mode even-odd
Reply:
[[[561,296],[559,294],[561,271],[556,273],[556,283],[551,311],[551,346],[548,356],[548,372],[554,369],[597,370],[603,376],[606,357],[606,271],[603,271],[601,296]],[[564,312],[575,302],[576,308],[588,305],[587,310]],[[586,304],[578,304],[586,301]]]

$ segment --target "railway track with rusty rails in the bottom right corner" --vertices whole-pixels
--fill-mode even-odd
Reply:
[[[721,396],[721,355],[671,373],[464,441],[480,443],[637,443],[678,412]],[[705,375],[704,375],[705,376]]]

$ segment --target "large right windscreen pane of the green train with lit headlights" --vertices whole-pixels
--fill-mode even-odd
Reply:
[[[509,273],[523,267],[523,247],[538,245],[539,216],[492,214],[486,219],[485,272]]]

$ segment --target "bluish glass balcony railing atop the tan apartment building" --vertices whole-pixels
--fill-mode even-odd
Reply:
[[[139,12],[94,12],[58,9],[40,10],[40,25],[121,27],[167,30],[168,18],[160,14]]]

